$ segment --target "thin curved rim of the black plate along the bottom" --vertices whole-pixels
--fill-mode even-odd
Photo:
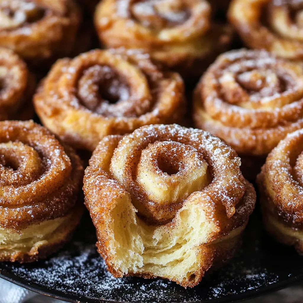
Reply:
[[[55,289],[47,288],[46,286],[40,285],[38,283],[28,281],[25,278],[19,277],[17,275],[13,275],[11,273],[8,273],[5,271],[5,269],[0,268],[0,278],[5,279],[6,281],[12,282],[15,285],[21,286],[23,288],[26,288],[30,291],[33,291],[35,293],[38,293],[40,295],[45,295],[48,297],[52,297],[58,300],[67,301],[71,303],[98,303],[98,302],[112,302],[112,303],[125,303],[120,301],[109,301],[109,300],[103,300],[103,299],[90,299],[86,297],[79,297],[77,295],[73,294],[66,294],[63,291],[58,291]],[[243,291],[243,293],[240,294],[231,294],[228,296],[228,298],[222,297],[218,299],[211,299],[211,300],[203,300],[203,301],[195,301],[191,303],[203,303],[203,302],[213,302],[213,303],[219,303],[219,302],[239,302],[251,298],[256,298],[260,295],[264,295],[269,292],[278,291],[282,288],[286,288],[287,286],[291,285],[292,283],[296,283],[298,281],[303,280],[303,273],[300,275],[296,275],[294,277],[289,277],[288,279],[281,281],[281,282],[274,282],[266,286],[261,286],[259,288],[254,288],[249,291]],[[141,303],[139,301],[134,302],[128,302],[128,303]]]

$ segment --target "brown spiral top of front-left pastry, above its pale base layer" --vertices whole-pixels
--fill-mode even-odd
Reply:
[[[0,122],[0,225],[21,229],[68,214],[83,176],[80,159],[32,121]]]

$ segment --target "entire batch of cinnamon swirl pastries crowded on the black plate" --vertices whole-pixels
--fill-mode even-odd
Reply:
[[[193,287],[241,245],[249,181],[303,253],[302,9],[0,0],[0,261],[48,257],[85,205],[115,277]]]

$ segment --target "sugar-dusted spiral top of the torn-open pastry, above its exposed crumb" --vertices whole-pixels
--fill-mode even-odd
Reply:
[[[247,188],[235,151],[208,132],[178,125],[150,125],[123,138],[105,137],[89,164],[84,181],[88,201],[94,194],[92,180],[111,186],[108,199],[118,198],[124,188],[138,214],[152,224],[170,221],[193,201],[205,201],[223,224]]]

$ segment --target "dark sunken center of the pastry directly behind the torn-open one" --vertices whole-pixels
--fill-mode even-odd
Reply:
[[[109,66],[94,65],[86,69],[78,86],[83,105],[98,114],[104,114],[109,104],[125,101],[130,96],[126,80]]]

